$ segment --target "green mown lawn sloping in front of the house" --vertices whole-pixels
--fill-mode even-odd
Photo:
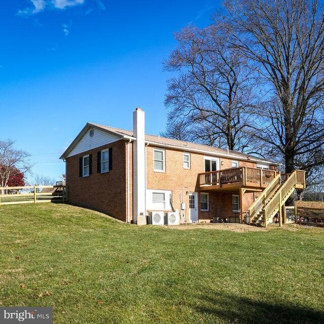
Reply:
[[[0,306],[53,306],[62,324],[324,323],[322,228],[190,228],[0,206]]]

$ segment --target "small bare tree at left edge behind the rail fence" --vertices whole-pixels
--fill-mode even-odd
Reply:
[[[12,140],[0,141],[0,187],[6,187],[10,174],[18,169],[25,173],[30,170],[32,164],[29,161],[30,154],[14,148]]]

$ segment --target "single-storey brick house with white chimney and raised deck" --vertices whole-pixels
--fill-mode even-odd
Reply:
[[[87,123],[61,159],[70,203],[138,224],[155,211],[181,223],[242,221],[278,174],[271,161],[145,134],[140,108],[133,131]]]

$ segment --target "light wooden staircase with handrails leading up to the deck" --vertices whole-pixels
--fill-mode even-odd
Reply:
[[[249,208],[249,222],[251,225],[267,227],[273,216],[279,214],[280,226],[282,224],[281,210],[287,199],[296,188],[305,188],[305,171],[295,170],[283,177],[280,172],[269,183],[268,187],[261,193]]]

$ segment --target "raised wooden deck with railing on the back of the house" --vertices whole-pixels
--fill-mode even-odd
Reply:
[[[239,167],[198,174],[200,190],[233,191],[241,188],[262,191],[278,174],[277,171]]]

